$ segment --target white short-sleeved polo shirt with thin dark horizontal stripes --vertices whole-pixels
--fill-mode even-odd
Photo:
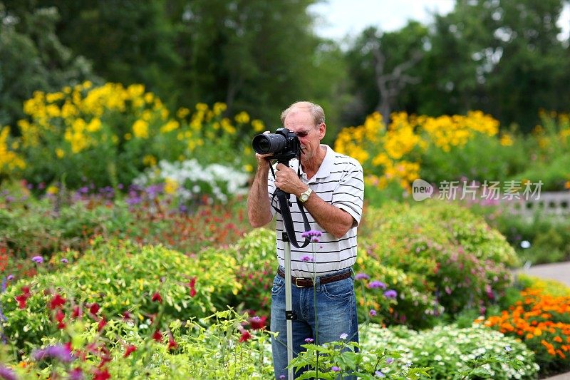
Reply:
[[[337,239],[334,235],[323,230],[318,225],[312,215],[305,210],[307,220],[311,225],[311,230],[323,232],[319,237],[319,242],[309,243],[304,248],[291,247],[291,274],[295,277],[313,277],[330,274],[340,269],[351,267],[356,262],[356,226],[360,223],[362,215],[362,206],[364,201],[364,182],[363,170],[360,163],[354,158],[336,153],[328,145],[321,145],[326,148],[326,155],[313,178],[307,178],[301,168],[301,180],[325,202],[336,206],[348,212],[356,225],[346,232],[346,235]],[[299,168],[299,160],[294,159],[289,162],[289,167],[295,170]],[[283,232],[285,231],[283,218],[281,214],[276,213],[274,207],[279,210],[279,202],[277,197],[273,197],[276,189],[274,184],[275,178],[269,173],[269,200],[271,202],[271,212],[277,214],[276,218],[276,246],[277,259],[279,265],[284,267],[284,242]],[[299,205],[301,202],[296,199],[295,195],[290,195],[291,219],[295,227],[296,240],[299,245],[304,243],[305,238],[301,237],[304,232],[304,222]],[[314,261],[313,261],[314,260]]]

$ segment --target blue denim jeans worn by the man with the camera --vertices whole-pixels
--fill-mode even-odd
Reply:
[[[343,269],[340,272],[350,272]],[[314,339],[314,343],[323,344],[341,340],[347,334],[347,341],[358,342],[358,320],[356,319],[356,297],[354,295],[354,279],[348,277],[328,284],[321,284],[317,277],[316,320],[312,287],[298,288],[291,285],[291,300],[297,319],[293,325],[293,356],[304,351],[301,344],[305,339]],[[318,337],[316,337],[318,327]],[[271,288],[271,332],[279,332],[278,337],[271,339],[273,351],[273,367],[275,379],[284,375],[287,378],[287,327],[285,321],[285,279],[276,274]],[[301,371],[295,377],[301,375]],[[345,377],[345,379],[347,379]]]

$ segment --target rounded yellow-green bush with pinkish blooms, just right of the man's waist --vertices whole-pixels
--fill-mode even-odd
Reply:
[[[361,245],[382,265],[420,277],[445,312],[496,302],[511,284],[514,250],[481,217],[442,202],[366,212]]]

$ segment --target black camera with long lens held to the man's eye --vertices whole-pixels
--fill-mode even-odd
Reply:
[[[289,161],[301,156],[299,138],[287,128],[278,128],[275,133],[256,135],[252,148],[260,155],[273,153],[278,161]]]

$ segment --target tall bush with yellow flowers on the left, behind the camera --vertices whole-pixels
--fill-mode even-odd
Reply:
[[[83,178],[97,187],[130,184],[160,160],[195,157],[202,165],[251,169],[249,141],[236,132],[264,127],[259,120],[250,123],[247,113],[230,120],[225,109],[223,103],[212,109],[199,103],[193,112],[180,108],[170,115],[140,84],[85,82],[56,93],[36,91],[24,103],[28,119],[18,122],[21,144],[14,154],[24,159],[24,178],[31,183],[59,181],[72,189]]]

